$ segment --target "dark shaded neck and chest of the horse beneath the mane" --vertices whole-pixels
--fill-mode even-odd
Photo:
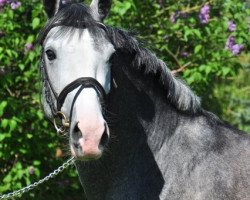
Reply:
[[[102,199],[107,191],[118,196],[124,190],[139,194],[135,191],[147,185],[150,190],[144,193],[149,192],[154,199],[164,185],[156,156],[174,133],[179,117],[154,77],[122,63],[112,68],[118,87],[111,90],[107,105],[111,130],[108,150],[99,164],[77,163],[78,173],[90,197]]]

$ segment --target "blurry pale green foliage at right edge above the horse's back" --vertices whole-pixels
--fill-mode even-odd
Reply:
[[[250,133],[249,76],[250,69],[240,70],[239,74],[233,77],[233,84],[232,80],[221,80],[214,89],[214,97],[223,99],[220,109],[225,118],[248,133]]]

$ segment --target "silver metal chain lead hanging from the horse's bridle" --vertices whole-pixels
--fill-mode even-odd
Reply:
[[[64,171],[66,168],[68,168],[70,165],[74,164],[74,162],[75,162],[75,158],[74,157],[70,158],[68,161],[63,163],[60,167],[58,167],[56,170],[54,170],[52,173],[50,173],[48,176],[44,177],[43,179],[41,179],[41,180],[31,184],[31,185],[28,185],[20,190],[16,190],[14,192],[4,194],[4,195],[0,196],[0,200],[12,199],[14,197],[21,197],[24,193],[27,193],[27,192],[35,189],[37,186],[43,184],[44,182],[47,182],[48,180],[54,178],[59,173]]]

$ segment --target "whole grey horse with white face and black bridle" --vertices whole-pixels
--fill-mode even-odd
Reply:
[[[104,24],[111,3],[43,0],[43,108],[69,138],[85,198],[250,199],[249,135],[203,109],[132,33]]]

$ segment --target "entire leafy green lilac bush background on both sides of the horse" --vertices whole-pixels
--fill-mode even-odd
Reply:
[[[106,24],[137,32],[206,109],[250,132],[249,8],[243,0],[113,0]],[[40,106],[35,43],[45,22],[41,1],[0,0],[0,193],[44,177],[68,158],[67,141]],[[230,36],[244,49],[225,48]],[[22,199],[77,200],[82,193],[72,167]]]

